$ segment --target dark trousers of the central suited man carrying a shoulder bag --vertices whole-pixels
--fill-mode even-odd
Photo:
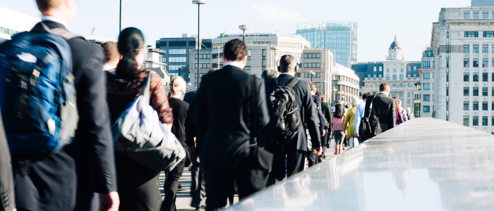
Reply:
[[[231,189],[234,187],[235,181],[239,191],[239,199],[242,200],[246,196],[251,195],[255,191],[246,185],[245,165],[239,165],[237,170],[212,170],[205,168],[206,176],[206,210],[217,210],[227,206],[228,195],[231,194]]]

